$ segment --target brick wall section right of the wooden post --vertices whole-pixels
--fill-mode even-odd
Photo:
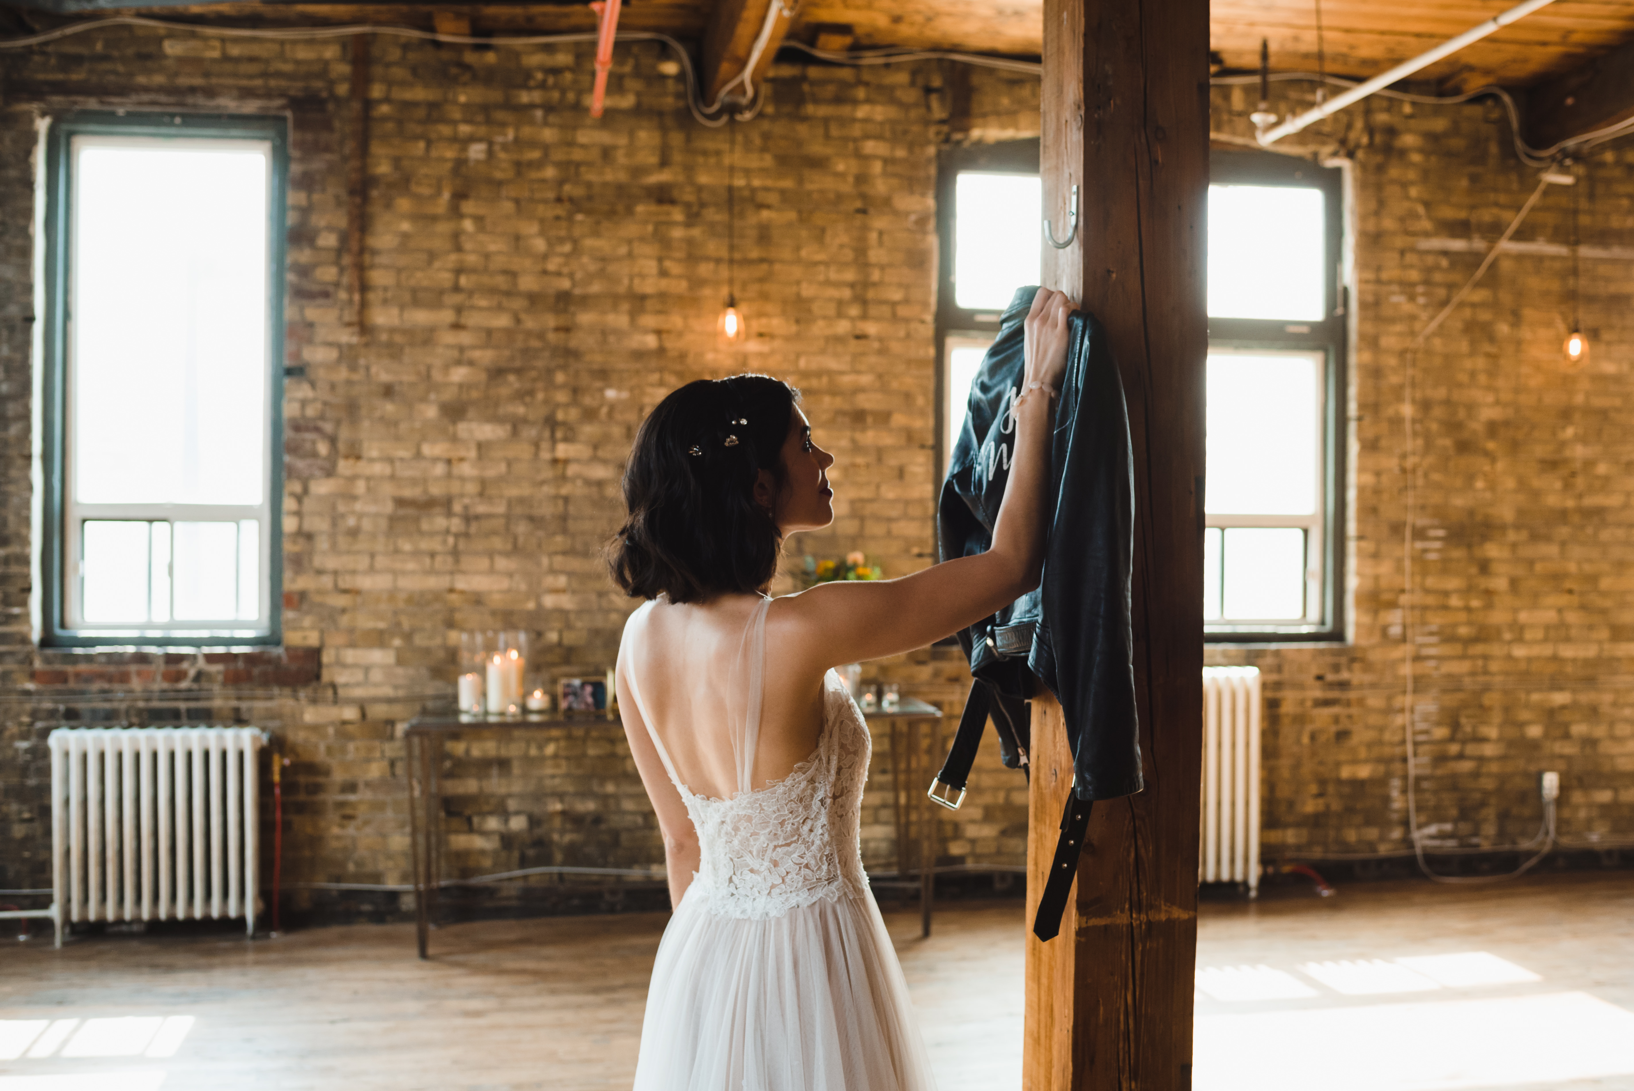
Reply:
[[[1288,87],[1288,85],[1284,85]],[[1217,90],[1216,132],[1252,136],[1252,88]],[[1302,109],[1309,90],[1273,105]],[[1265,853],[1407,848],[1404,364],[1538,185],[1493,105],[1369,100],[1288,144],[1353,167],[1356,343],[1350,367],[1353,642],[1221,647],[1265,671]],[[1634,150],[1580,170],[1593,351],[1567,367],[1570,260],[1505,255],[1415,364],[1413,733],[1420,825],[1462,846],[1539,825],[1536,777],[1560,773],[1574,848],[1634,843]],[[1516,234],[1570,240],[1551,188]]]

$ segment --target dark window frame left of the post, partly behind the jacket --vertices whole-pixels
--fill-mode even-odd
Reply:
[[[964,171],[990,175],[1041,175],[1038,137],[1028,140],[1003,140],[998,144],[971,144],[944,147],[936,154],[936,497],[948,472],[953,454],[951,421],[948,420],[948,367],[953,361],[951,341],[987,341],[998,336],[998,318],[1003,309],[980,310],[961,307],[954,284],[954,230],[956,186]],[[1039,230],[1044,227],[1039,224]],[[935,497],[933,497],[935,500]]]

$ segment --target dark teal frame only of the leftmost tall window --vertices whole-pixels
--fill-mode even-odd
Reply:
[[[131,111],[72,111],[52,118],[46,129],[46,237],[44,237],[44,358],[42,358],[42,541],[41,541],[41,647],[260,647],[283,642],[283,431],[284,431],[284,276],[286,276],[286,206],[289,180],[288,119],[265,114],[186,114]],[[265,626],[253,632],[208,634],[188,632],[176,622],[144,626],[74,627],[70,624],[69,560],[77,555],[75,536],[69,526],[74,505],[69,497],[70,454],[69,418],[69,340],[72,320],[69,255],[72,229],[72,140],[78,136],[103,137],[188,137],[222,140],[258,140],[270,149],[266,188],[266,532],[260,544],[261,578],[266,586]],[[114,508],[116,505],[96,505]],[[118,505],[131,508],[131,505]],[[158,505],[141,505],[157,511]],[[136,508],[132,508],[134,511]],[[208,514],[208,508],[188,505],[190,513]],[[234,508],[237,511],[237,508]],[[118,518],[118,516],[114,516]],[[150,521],[152,514],[131,514]],[[257,513],[260,518],[260,513]],[[252,622],[240,622],[252,629]]]

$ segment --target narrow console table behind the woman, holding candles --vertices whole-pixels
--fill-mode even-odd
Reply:
[[[936,759],[940,745],[938,727],[941,710],[923,701],[904,699],[892,710],[864,712],[874,745],[881,735],[891,746],[891,799],[895,817],[897,871],[887,885],[904,885],[909,875],[918,872],[920,934],[930,936],[931,910],[936,897],[936,818],[935,805],[925,797],[931,769],[925,768],[925,753]],[[458,880],[443,879],[443,743],[467,730],[482,732],[541,732],[551,728],[583,727],[600,720],[596,715],[560,719],[547,714],[485,715],[456,709],[430,709],[408,720],[404,728],[404,748],[408,789],[408,835],[413,854],[415,931],[420,957],[430,957],[430,931],[436,921],[436,897],[444,885]],[[603,720],[606,722],[606,720]],[[618,720],[611,720],[618,722]],[[884,730],[881,730],[884,728]],[[928,737],[922,735],[928,728]],[[913,867],[917,864],[917,867]],[[623,875],[634,879],[662,879],[662,869],[627,867],[529,867],[513,875],[564,872],[580,875]]]

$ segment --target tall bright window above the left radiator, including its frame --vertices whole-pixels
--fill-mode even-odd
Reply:
[[[278,639],[284,122],[74,114],[46,194],[46,643]]]

